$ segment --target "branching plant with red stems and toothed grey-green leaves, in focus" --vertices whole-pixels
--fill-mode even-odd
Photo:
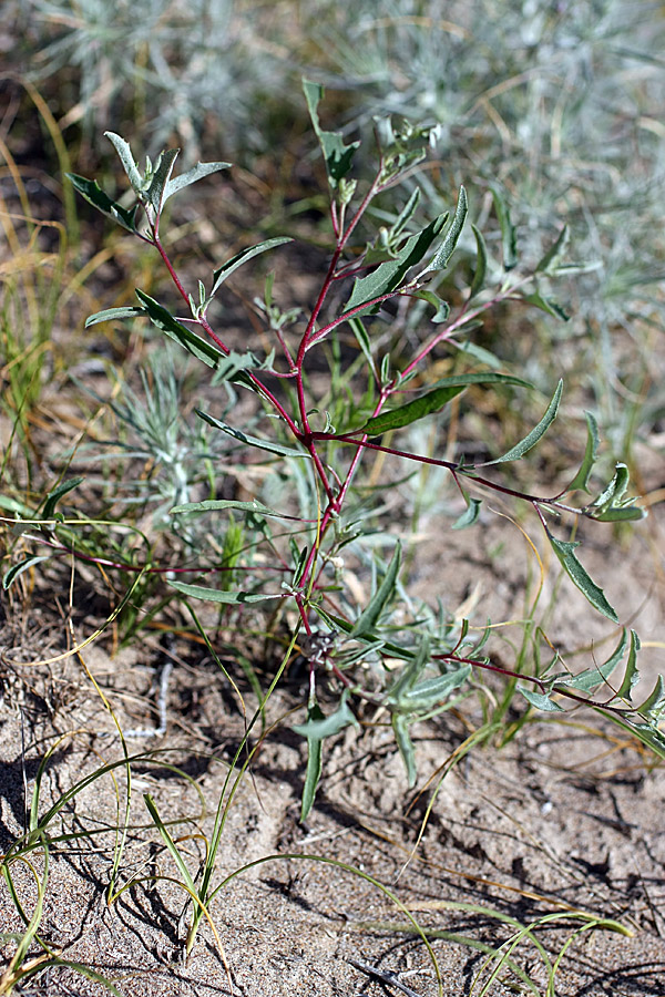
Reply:
[[[270,417],[266,423],[270,430],[263,435],[249,435],[207,412],[200,411],[198,414],[227,434],[235,445],[244,444],[259,460],[290,475],[291,482],[297,481],[300,506],[303,496],[310,502],[310,507],[305,511],[293,505],[277,510],[258,498],[211,497],[176,505],[172,510],[174,517],[209,513],[229,515],[234,526],[238,516],[244,517],[246,535],[250,536],[246,543],[247,559],[241,564],[235,552],[232,566],[234,571],[243,572],[247,580],[239,590],[229,590],[227,585],[208,587],[180,580],[170,583],[187,600],[205,599],[235,607],[290,602],[296,607],[303,634],[298,646],[309,665],[307,721],[297,728],[307,738],[309,747],[303,801],[305,815],[311,806],[320,775],[321,742],[357,722],[351,703],[380,706],[389,712],[409,780],[413,782],[415,752],[409,728],[458,702],[474,668],[515,677],[515,672],[497,667],[483,655],[489,630],[480,639],[473,638],[468,621],[456,624],[440,608],[439,611],[420,606],[413,608],[400,587],[401,548],[395,537],[386,537],[386,543],[393,546],[389,564],[383,566],[375,561],[372,565],[372,592],[367,604],[358,608],[350,593],[344,589],[342,552],[354,544],[364,528],[367,492],[359,492],[354,486],[367,454],[380,451],[406,461],[446,469],[466,504],[466,511],[454,523],[457,528],[470,526],[479,518],[481,501],[469,494],[478,485],[529,503],[563,571],[589,602],[615,624],[618,623],[615,610],[577,559],[579,542],[556,536],[552,523],[562,516],[583,516],[607,523],[636,520],[643,513],[633,500],[625,497],[628,472],[621,463],[596,497],[581,505],[572,504],[566,497],[573,492],[590,493],[589,482],[598,448],[596,422],[590,413],[586,413],[587,442],[582,465],[567,487],[559,493],[552,496],[530,494],[488,476],[484,469],[520,460],[552,425],[562,397],[561,382],[531,432],[493,460],[471,463],[463,455],[441,460],[391,445],[392,435],[388,438],[388,434],[441,412],[469,386],[530,387],[520,378],[499,372],[495,358],[470,343],[469,333],[478,327],[480,317],[488,309],[500,304],[516,301],[552,314],[560,311],[548,297],[548,286],[562,269],[570,273],[570,267],[564,268],[560,261],[565,247],[565,230],[535,267],[529,271],[521,269],[518,267],[515,227],[505,198],[495,187],[492,194],[502,234],[502,263],[491,258],[481,233],[472,226],[478,250],[475,269],[461,296],[461,304],[451,308],[439,297],[437,287],[450,265],[467,220],[468,203],[463,188],[459,192],[452,217],[444,213],[432,218],[424,228],[412,230],[411,223],[420,199],[420,193],[415,191],[389,227],[379,228],[378,234],[364,245],[358,235],[360,223],[366,223],[371,214],[370,205],[422,160],[429,133],[406,123],[395,129],[390,122],[383,122],[381,137],[378,137],[379,167],[362,191],[350,177],[359,143],[347,144],[340,133],[325,131],[318,115],[323,89],[307,81],[304,89],[327,169],[334,250],[315,305],[303,325],[297,315],[279,312],[272,296],[272,278],[268,279],[259,310],[268,319],[280,359],[276,358],[275,350],[259,360],[250,351],[241,353],[232,349],[224,335],[213,327],[208,311],[224,282],[243,264],[289,240],[270,238],[242,249],[214,271],[209,289],[200,280],[195,295],[187,290],[176,273],[163,241],[161,228],[168,198],[188,184],[225,169],[227,163],[198,163],[174,176],[178,151],[168,150],[154,165],[147,160],[142,172],[129,144],[108,132],[135,195],[134,206],[126,207],[113,201],[94,181],[76,175],[70,175],[70,179],[104,215],[157,250],[186,309],[184,315],[176,317],[171,309],[136,290],[139,305],[98,312],[86,325],[146,317],[206,363],[214,371],[214,383],[224,384],[232,397],[232,384],[253,392],[265,414]],[[346,302],[337,310],[328,311],[345,284],[350,285]],[[382,309],[386,318],[386,312],[395,311],[396,305],[433,310],[433,327],[429,330],[424,327],[421,331],[423,319],[418,326],[415,322],[409,326],[408,347],[412,354],[406,360],[403,343],[392,340],[386,350],[386,325],[381,326],[381,319],[375,318]],[[308,361],[317,351],[324,354],[328,351],[327,356],[331,352],[339,367],[345,357],[340,345],[345,327],[351,330],[358,348],[348,361],[349,368],[356,371],[356,391],[350,390],[349,374],[341,387],[331,392],[326,402],[329,410],[321,414],[320,399],[313,392],[307,376]],[[462,367],[469,358],[475,358],[484,369],[472,372],[462,369],[434,380],[426,389],[423,371],[434,351],[440,357],[442,349],[457,357]],[[358,357],[362,368],[356,362]],[[360,392],[361,400],[358,401],[360,369],[367,373],[367,383],[362,384],[364,394]],[[456,369],[460,370],[460,367]],[[288,471],[289,467],[305,467],[306,471]],[[47,503],[50,515],[55,501],[69,486],[71,483],[61,483],[55,495],[50,497]],[[275,520],[283,522],[283,532],[276,533],[270,527]],[[57,523],[54,531],[58,532]],[[227,566],[218,565],[222,569]],[[274,575],[268,576],[268,569],[283,572],[288,580],[280,585],[269,584],[267,579]],[[196,568],[178,566],[174,568],[177,571],[196,572]],[[406,607],[406,621],[400,624],[392,611],[398,600]],[[658,678],[653,692],[641,706],[633,702],[638,677],[638,647],[637,636],[632,633],[628,637],[624,631],[607,660],[594,664],[581,675],[565,670],[562,658],[554,652],[538,675],[521,677],[531,687],[522,686],[520,691],[531,706],[550,711],[562,709],[553,698],[555,696],[586,703],[627,727],[658,753],[665,753],[665,737],[658,729],[665,711],[663,680]],[[611,685],[610,677],[624,658],[623,678]],[[317,696],[321,676],[326,676],[329,685],[341,693],[338,708],[328,717],[324,716]],[[610,690],[608,695],[601,699],[591,698],[601,686]],[[453,692],[456,698],[451,699]]]

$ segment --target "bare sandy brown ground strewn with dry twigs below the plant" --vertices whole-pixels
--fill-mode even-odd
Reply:
[[[457,569],[450,546],[444,568],[440,553],[426,543],[418,584],[431,587],[446,573],[454,605],[456,598],[469,597],[480,572],[483,587],[475,598],[483,609],[515,608],[511,599],[525,571],[521,543],[520,555],[515,545],[509,558],[513,576],[493,576],[487,552],[494,528],[490,523],[484,532],[459,535],[463,541],[456,543],[464,545],[466,557]],[[642,631],[646,672],[662,661],[657,645],[665,634],[663,588],[653,559],[658,536],[657,520],[655,533],[653,520],[640,526],[621,574],[610,573],[607,585],[622,619]],[[590,568],[596,561],[601,567],[602,551],[589,548],[589,558]],[[282,722],[267,733],[241,782],[214,882],[247,863],[267,861],[217,894],[211,906],[217,938],[204,923],[183,962],[186,894],[173,882],[178,873],[150,820],[144,794],[154,799],[162,820],[174,822],[171,834],[196,875],[204,835],[209,836],[228,762],[244,731],[227,679],[182,641],[167,650],[155,643],[115,656],[99,643],[80,659],[28,669],[17,662],[34,659],[40,641],[43,648],[57,647],[54,621],[47,614],[21,636],[17,620],[7,619],[3,633],[1,851],[25,826],[39,763],[49,748],[57,746],[40,782],[42,819],[50,802],[86,773],[122,758],[91,676],[123,730],[154,729],[158,678],[166,660],[173,665],[166,730],[126,739],[129,751],[144,757],[132,764],[129,831],[116,878],[126,888],[115,903],[109,906],[106,896],[116,854],[112,829],[126,800],[124,769],[113,770],[115,783],[110,774],[93,781],[48,825],[40,937],[63,959],[111,979],[126,997],[434,997],[437,970],[405,907],[430,939],[444,995],[544,997],[550,993],[546,959],[554,963],[566,943],[552,991],[560,997],[665,995],[665,775],[635,741],[602,718],[574,711],[565,721],[548,722],[541,716],[500,751],[492,744],[473,748],[441,782],[451,753],[482,719],[470,700],[463,713],[446,713],[417,729],[419,782],[410,792],[386,718],[368,713],[360,733],[351,729],[326,742],[324,779],[303,825],[305,752],[290,730],[293,717],[286,716],[303,701],[296,675],[269,703],[268,727]],[[572,587],[560,592],[549,634],[561,634],[569,650],[611,636]],[[252,695],[244,695],[250,711]],[[43,847],[29,857],[43,874]],[[12,873],[30,916],[37,898],[32,873],[20,861]],[[615,921],[625,934],[593,927],[579,912]],[[531,925],[533,935],[515,941],[519,927],[510,918]],[[0,884],[0,929],[21,931],[7,883]],[[491,950],[502,943],[511,963],[499,966],[484,991],[498,964],[485,965],[482,946]],[[13,950],[8,941],[6,958]],[[28,958],[39,952],[33,945]],[[531,989],[518,969],[528,974]],[[106,990],[59,966],[14,993],[60,997]]]

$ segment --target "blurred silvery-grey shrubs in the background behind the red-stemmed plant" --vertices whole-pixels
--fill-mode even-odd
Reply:
[[[104,129],[153,156],[175,143],[190,163],[236,163],[255,192],[254,226],[315,209],[306,74],[329,89],[329,113],[349,134],[385,115],[438,126],[418,175],[428,209],[464,183],[487,230],[499,182],[528,260],[569,225],[571,257],[590,268],[563,295],[572,321],[543,318],[538,350],[502,330],[505,348],[521,350],[538,382],[546,341],[592,394],[616,454],[636,420],[662,435],[662,4],[20,0],[6,10],[2,137],[19,176],[4,168],[3,196],[16,206],[22,179],[23,210],[41,223],[61,222],[64,202],[79,261],[89,247],[61,186],[64,148],[76,172],[103,178],[115,169]],[[42,229],[38,244],[54,239]]]

